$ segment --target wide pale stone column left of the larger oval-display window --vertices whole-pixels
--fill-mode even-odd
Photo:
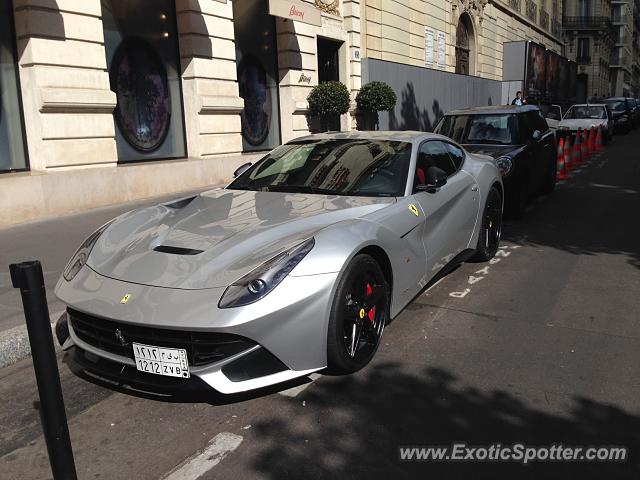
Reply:
[[[32,170],[117,161],[100,0],[14,0]]]

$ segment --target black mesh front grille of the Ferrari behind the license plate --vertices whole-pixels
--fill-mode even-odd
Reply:
[[[106,320],[71,308],[67,312],[71,327],[80,340],[105,352],[132,360],[132,342],[156,347],[184,348],[191,366],[218,362],[257,345],[230,333],[169,330]],[[116,337],[116,329],[120,330],[126,340],[124,346]]]

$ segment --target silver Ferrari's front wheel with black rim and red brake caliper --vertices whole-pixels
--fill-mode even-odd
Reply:
[[[327,331],[327,369],[353,373],[373,358],[389,321],[390,289],[371,256],[349,262],[338,280]]]

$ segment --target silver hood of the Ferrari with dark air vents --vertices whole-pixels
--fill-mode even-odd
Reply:
[[[227,286],[318,230],[394,198],[217,189],[119,217],[87,265],[106,277],[158,287]]]

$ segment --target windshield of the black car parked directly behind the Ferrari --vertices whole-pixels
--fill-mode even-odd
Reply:
[[[517,139],[516,125],[512,114],[448,115],[435,131],[462,144],[512,145]]]

